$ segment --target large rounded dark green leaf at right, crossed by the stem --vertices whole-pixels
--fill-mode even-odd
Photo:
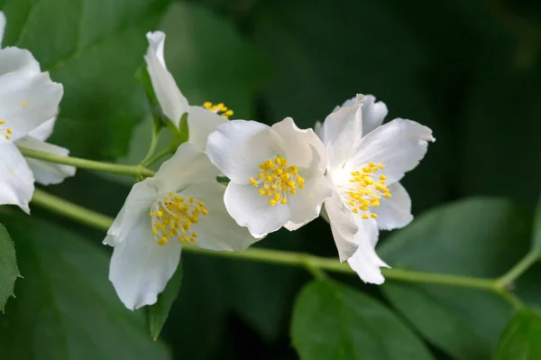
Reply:
[[[435,208],[390,236],[393,267],[496,278],[527,254],[531,217],[512,202],[471,198]],[[514,309],[475,289],[388,281],[382,290],[432,344],[457,359],[487,359]]]

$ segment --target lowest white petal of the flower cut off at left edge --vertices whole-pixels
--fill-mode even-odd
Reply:
[[[0,205],[13,204],[30,214],[34,190],[32,171],[14,143],[0,139]]]

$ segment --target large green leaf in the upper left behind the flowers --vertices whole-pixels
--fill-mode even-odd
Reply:
[[[133,126],[148,111],[133,79],[143,62],[145,32],[157,25],[169,3],[5,2],[4,44],[32,51],[41,69],[64,85],[51,142],[82,157],[115,158],[127,152]]]

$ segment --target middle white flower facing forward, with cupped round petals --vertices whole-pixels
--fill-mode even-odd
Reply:
[[[258,238],[316,218],[331,193],[323,143],[290,117],[271,127],[244,120],[219,125],[208,137],[206,152],[231,180],[225,208]]]

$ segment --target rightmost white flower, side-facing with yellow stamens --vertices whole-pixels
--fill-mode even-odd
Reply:
[[[382,283],[375,252],[379,229],[408,225],[411,200],[399,180],[425,156],[432,131],[395,119],[381,125],[387,106],[357,95],[337,107],[318,126],[328,154],[327,178],[333,195],[325,202],[340,260],[347,260],[362,281]]]

